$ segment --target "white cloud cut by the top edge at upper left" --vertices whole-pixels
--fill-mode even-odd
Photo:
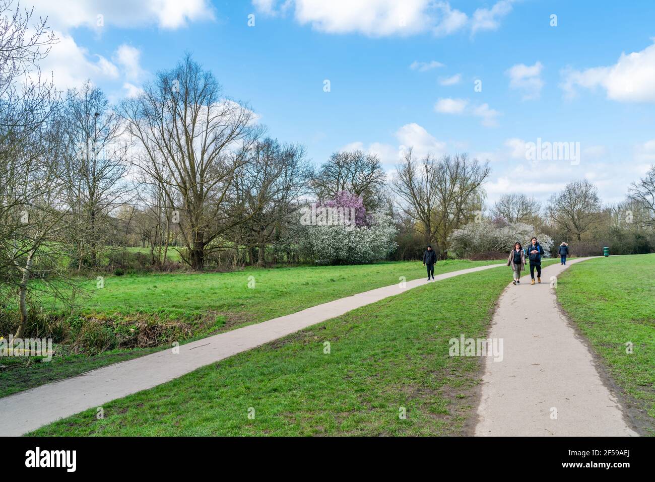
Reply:
[[[48,17],[54,29],[103,26],[137,27],[156,24],[176,29],[188,22],[214,18],[209,0],[31,0],[36,16]],[[101,24],[102,22],[102,24]]]

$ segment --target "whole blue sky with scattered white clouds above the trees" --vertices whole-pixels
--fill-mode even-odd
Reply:
[[[392,176],[405,147],[468,153],[491,162],[491,203],[583,177],[618,202],[655,162],[652,1],[32,1],[62,88],[120,100],[188,50],[316,163],[360,148]],[[579,164],[526,160],[538,138],[579,142]]]

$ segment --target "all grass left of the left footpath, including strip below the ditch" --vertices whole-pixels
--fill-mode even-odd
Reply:
[[[498,261],[440,261],[435,274],[495,263]],[[255,282],[253,288],[248,287],[250,276]],[[98,318],[155,313],[180,319],[189,318],[193,313],[207,314],[216,316],[214,333],[217,333],[398,283],[399,276],[405,276],[408,281],[421,278],[424,276],[422,263],[109,276],[104,288],[94,289],[92,296],[83,300],[81,310]],[[88,282],[89,289],[95,286],[95,280]],[[55,305],[56,308],[60,307]],[[55,357],[47,363],[0,360],[0,365],[6,365],[0,370],[0,397],[162,348]]]

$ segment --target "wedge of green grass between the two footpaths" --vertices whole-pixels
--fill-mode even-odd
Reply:
[[[511,276],[491,269],[417,287],[107,403],[103,420],[94,408],[33,435],[460,434],[481,359],[451,358],[449,339],[486,337]]]

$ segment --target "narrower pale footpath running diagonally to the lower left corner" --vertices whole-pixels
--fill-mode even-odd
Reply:
[[[459,274],[498,266],[502,265],[453,271],[434,278],[435,281],[445,280]],[[147,390],[204,365],[424,284],[428,284],[428,280],[421,278],[407,281],[404,286],[399,283],[371,289],[287,316],[183,344],[179,346],[177,354],[170,349],[162,350],[0,398],[0,420],[3,420],[0,435],[26,434],[59,418],[69,417],[91,407],[100,407],[108,401]]]

